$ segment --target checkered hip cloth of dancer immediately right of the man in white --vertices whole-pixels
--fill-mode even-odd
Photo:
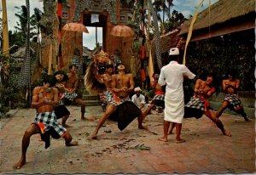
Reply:
[[[207,99],[203,99],[200,96],[193,96],[189,103],[185,104],[185,107],[206,111],[208,108],[208,102]]]

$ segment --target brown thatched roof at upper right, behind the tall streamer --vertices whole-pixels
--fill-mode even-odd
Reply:
[[[209,25],[218,25],[229,20],[236,19],[247,14],[253,14],[255,19],[255,0],[219,0],[209,8],[198,14],[193,31],[208,28]],[[183,23],[178,35],[187,34],[191,19]]]

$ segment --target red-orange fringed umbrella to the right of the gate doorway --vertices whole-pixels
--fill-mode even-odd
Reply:
[[[115,25],[110,34],[114,37],[132,37],[134,31],[127,25]]]

